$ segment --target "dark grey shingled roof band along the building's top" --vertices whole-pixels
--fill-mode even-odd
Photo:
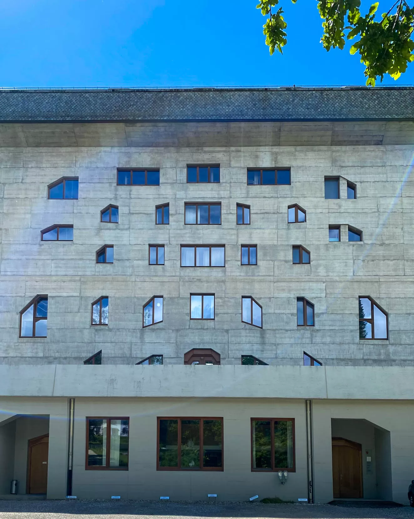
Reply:
[[[414,87],[0,90],[0,121],[414,119]]]

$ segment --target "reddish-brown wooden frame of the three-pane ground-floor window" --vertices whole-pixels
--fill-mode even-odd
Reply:
[[[160,467],[159,466],[159,422],[160,420],[178,420],[177,428],[177,461],[178,467]],[[199,468],[187,469],[182,468],[181,465],[181,420],[199,420]],[[203,422],[204,420],[218,420],[221,421],[221,467],[203,467],[203,452],[204,452],[204,438],[203,438]],[[223,472],[224,471],[224,424],[223,417],[219,416],[157,416],[157,470],[160,471],[181,471],[181,472]]]

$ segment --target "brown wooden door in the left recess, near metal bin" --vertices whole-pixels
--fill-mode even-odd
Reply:
[[[49,454],[49,435],[29,440],[28,477],[26,494],[47,493],[47,465]]]

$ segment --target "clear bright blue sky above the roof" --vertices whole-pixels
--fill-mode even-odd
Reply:
[[[379,10],[390,2],[380,0]],[[319,44],[316,0],[282,0],[288,22],[283,56],[270,56],[256,4],[0,0],[0,86],[365,84],[357,56]],[[384,84],[414,84],[414,64]]]

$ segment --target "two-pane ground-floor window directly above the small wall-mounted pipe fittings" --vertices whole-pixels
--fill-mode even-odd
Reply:
[[[295,419],[251,419],[251,470],[296,472]]]

